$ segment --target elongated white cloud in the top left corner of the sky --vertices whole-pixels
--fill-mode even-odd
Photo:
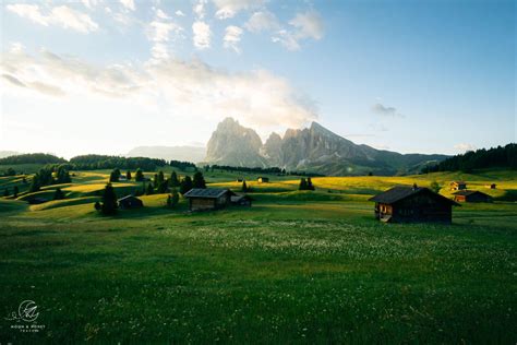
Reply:
[[[95,23],[89,15],[65,5],[52,8],[50,13],[47,15],[40,12],[37,4],[8,4],[7,9],[8,11],[44,26],[59,25],[83,34],[94,32],[98,28],[98,24]]]

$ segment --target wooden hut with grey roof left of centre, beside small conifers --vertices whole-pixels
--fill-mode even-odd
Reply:
[[[231,197],[236,195],[229,189],[223,188],[193,188],[187,193],[184,198],[189,200],[190,211],[206,211],[217,210],[228,206],[231,202]]]

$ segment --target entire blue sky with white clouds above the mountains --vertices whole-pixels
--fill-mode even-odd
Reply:
[[[205,145],[226,117],[400,153],[517,141],[514,1],[0,5],[0,151]]]

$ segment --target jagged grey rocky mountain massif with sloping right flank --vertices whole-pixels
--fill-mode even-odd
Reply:
[[[358,145],[312,122],[304,129],[272,133],[263,144],[252,129],[232,118],[217,126],[208,141],[204,163],[248,167],[277,166],[330,176],[410,174],[446,155],[400,154]]]

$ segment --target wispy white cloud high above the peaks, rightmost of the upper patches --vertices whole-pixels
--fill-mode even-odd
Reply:
[[[300,50],[301,40],[316,39],[320,40],[324,36],[323,19],[314,10],[297,13],[289,21],[289,28],[280,28],[276,35],[272,37],[272,41],[279,43],[288,50]]]

